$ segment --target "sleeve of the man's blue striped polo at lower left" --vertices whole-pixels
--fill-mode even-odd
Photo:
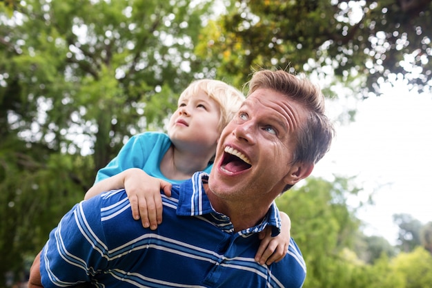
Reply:
[[[107,267],[108,247],[100,217],[100,197],[76,204],[63,216],[41,253],[43,287],[89,282]]]

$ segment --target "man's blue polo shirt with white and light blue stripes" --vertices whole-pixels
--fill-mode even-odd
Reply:
[[[43,248],[43,287],[302,287],[306,267],[293,239],[280,262],[254,260],[257,233],[280,227],[275,204],[256,227],[234,232],[228,216],[211,207],[207,179],[195,173],[173,185],[172,197],[162,195],[164,222],[155,231],[133,220],[124,190],[75,205]]]

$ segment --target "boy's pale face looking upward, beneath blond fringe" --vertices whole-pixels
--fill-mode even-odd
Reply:
[[[219,139],[219,104],[203,90],[179,99],[168,124],[168,136],[178,148],[194,148],[197,153],[215,153]]]

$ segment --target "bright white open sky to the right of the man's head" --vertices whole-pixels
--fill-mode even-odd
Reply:
[[[432,95],[399,86],[360,102],[357,111],[355,122],[337,127],[331,151],[313,175],[357,175],[364,194],[374,193],[375,204],[358,214],[366,234],[395,244],[393,214],[432,221]]]

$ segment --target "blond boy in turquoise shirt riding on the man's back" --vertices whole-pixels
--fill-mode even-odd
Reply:
[[[162,221],[160,190],[170,196],[171,184],[183,182],[195,171],[210,172],[219,135],[244,99],[239,90],[222,81],[193,81],[179,97],[168,135],[146,132],[131,137],[119,154],[98,171],[95,185],[85,199],[125,188],[133,217],[141,218],[144,227],[157,229]],[[260,236],[257,262],[270,265],[285,256],[291,222],[285,213],[281,216],[283,231],[279,236],[272,238],[271,229]]]

